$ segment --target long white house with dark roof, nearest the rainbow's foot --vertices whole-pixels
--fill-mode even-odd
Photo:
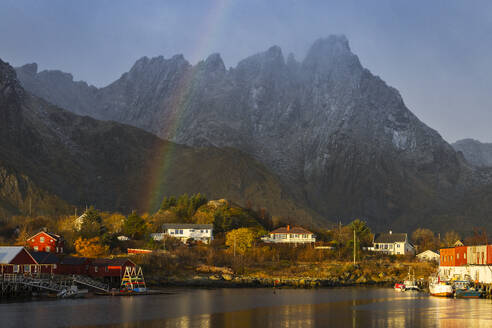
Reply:
[[[213,237],[213,224],[166,223],[162,225],[162,233],[153,233],[154,240],[163,240],[171,236],[186,242],[188,239],[202,241],[209,244]]]

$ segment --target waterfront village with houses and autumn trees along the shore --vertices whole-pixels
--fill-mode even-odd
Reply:
[[[27,236],[23,242],[18,240],[17,245],[0,246],[0,295],[135,295],[150,293],[147,285],[391,286],[410,271],[419,277],[421,286],[428,284],[430,275],[437,275],[440,281],[469,281],[480,285],[484,294],[490,293],[492,245],[465,246],[458,240],[452,247],[437,248],[442,243],[426,245],[427,239],[421,235],[429,233],[421,229],[412,234],[419,242],[415,246],[408,233],[372,234],[361,220],[339,224],[329,231],[315,232],[281,222],[274,227],[271,219],[262,221],[256,212],[245,216],[236,205],[223,200],[196,202],[200,197],[194,195],[180,203],[194,208],[188,218],[183,216],[184,222],[159,221],[154,232],[143,229],[145,220],[135,213],[121,219],[122,225],[134,229],[115,234],[111,248],[94,237],[97,233],[86,239],[71,236],[70,243],[58,231],[47,229]],[[178,203],[165,199],[160,215],[179,213]],[[203,217],[210,209],[215,210],[210,223],[191,223],[190,216],[198,213]],[[219,209],[225,217],[217,215]],[[231,213],[241,219],[227,218]],[[101,227],[94,227],[94,222],[102,221],[90,219],[97,215],[88,208],[73,217],[71,227],[79,232],[98,232]],[[265,227],[273,228],[267,231]],[[447,239],[452,238],[454,234]]]

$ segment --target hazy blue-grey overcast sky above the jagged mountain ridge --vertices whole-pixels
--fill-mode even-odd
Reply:
[[[142,56],[234,66],[275,44],[302,60],[330,34],[446,140],[492,142],[492,1],[0,1],[1,59],[96,86]]]

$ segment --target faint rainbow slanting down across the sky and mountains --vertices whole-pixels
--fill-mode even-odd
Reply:
[[[219,33],[224,18],[227,16],[228,7],[232,0],[217,0],[213,2],[203,20],[203,31],[200,41],[192,51],[192,58],[205,58],[213,52],[216,45],[215,37]],[[166,118],[166,124],[162,127],[167,140],[173,140],[182,123],[182,117],[187,107],[186,96],[193,80],[193,72],[186,74],[178,84],[175,94],[169,103],[171,115]],[[176,145],[170,142],[159,143],[155,151],[155,158],[149,165],[149,175],[145,181],[145,192],[142,194],[143,209],[151,212],[158,208],[162,201],[162,186],[169,178],[168,174],[175,158]],[[165,187],[165,186],[164,186]]]

